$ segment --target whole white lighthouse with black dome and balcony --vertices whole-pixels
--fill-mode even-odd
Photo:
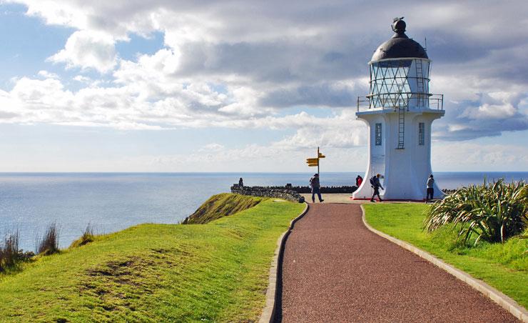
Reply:
[[[403,18],[392,23],[392,37],[368,62],[370,91],[357,98],[356,118],[368,125],[365,180],[352,194],[370,199],[369,178],[381,174],[382,199],[423,200],[431,169],[432,121],[444,116],[443,94],[430,94],[431,60],[405,34]],[[435,198],[442,192],[435,182]]]

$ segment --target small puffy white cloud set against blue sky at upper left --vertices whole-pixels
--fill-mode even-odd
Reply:
[[[55,63],[65,63],[68,68],[92,68],[106,73],[116,66],[117,56],[111,36],[81,30],[71,34],[64,49],[50,56],[49,60]]]

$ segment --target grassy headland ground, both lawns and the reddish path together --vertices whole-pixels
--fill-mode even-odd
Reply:
[[[283,192],[267,197],[265,190],[257,191],[263,196],[217,194],[183,224],[141,224],[96,235],[93,242],[81,247],[39,255],[15,272],[0,274],[1,321],[258,320],[265,307],[277,239],[303,212],[305,204],[298,203],[298,197],[303,196],[297,193],[292,195],[295,202],[288,202],[271,196]],[[310,204],[308,214],[295,224],[280,258],[276,320],[516,320],[447,272],[372,237],[360,220],[358,203],[347,199],[347,194],[326,194],[325,203]],[[365,206],[366,220],[527,307],[528,239],[511,238],[504,244],[481,243],[476,247],[460,244],[453,230],[423,231],[430,207],[423,203],[369,204]],[[391,257],[399,260],[393,262]],[[411,279],[412,284],[405,279]],[[453,285],[447,288],[450,292],[463,290],[454,295],[470,297],[459,299],[442,292],[444,289],[439,288],[446,284]],[[409,294],[410,286],[425,293],[423,297]],[[323,297],[325,293],[332,296]],[[374,302],[376,299],[380,302]],[[477,299],[481,310],[457,316],[474,306],[475,302],[468,299]],[[449,312],[444,308],[450,308],[449,304],[457,304],[460,311]],[[321,306],[325,309],[319,309]]]

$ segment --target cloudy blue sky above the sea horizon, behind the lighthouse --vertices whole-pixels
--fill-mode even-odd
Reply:
[[[437,172],[528,170],[528,2],[0,0],[0,172],[364,172],[367,62],[405,16]]]

